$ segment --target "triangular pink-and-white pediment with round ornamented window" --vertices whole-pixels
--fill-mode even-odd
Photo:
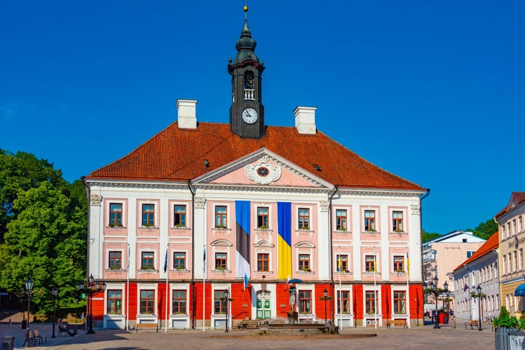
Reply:
[[[320,167],[313,172],[322,172]],[[277,186],[295,188],[333,188],[313,172],[308,172],[289,160],[261,148],[224,167],[215,169],[195,179],[193,184],[236,185],[236,186]]]

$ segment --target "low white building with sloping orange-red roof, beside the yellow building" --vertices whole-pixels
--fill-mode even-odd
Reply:
[[[454,269],[455,315],[479,319],[477,286],[482,288],[482,320],[500,314],[500,278],[498,272],[499,235],[496,232],[467,260]]]

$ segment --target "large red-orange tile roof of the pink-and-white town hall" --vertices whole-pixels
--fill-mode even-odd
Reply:
[[[184,130],[175,122],[87,178],[188,181],[263,147],[340,187],[423,190],[376,167],[322,132],[306,135],[295,127],[268,126],[260,139],[245,139],[225,123],[198,123],[196,129]],[[209,167],[204,166],[204,160]],[[314,165],[320,166],[320,172]]]

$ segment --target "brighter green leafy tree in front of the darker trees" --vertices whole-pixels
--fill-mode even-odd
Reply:
[[[76,283],[85,276],[86,214],[79,207],[71,210],[64,192],[69,191],[48,181],[18,191],[13,200],[17,215],[7,225],[0,255],[0,286],[20,292],[31,276],[34,303],[44,312],[52,309],[53,286],[61,298],[72,298]]]

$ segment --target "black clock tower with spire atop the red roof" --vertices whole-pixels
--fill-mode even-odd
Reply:
[[[259,139],[264,134],[264,106],[261,99],[261,80],[264,63],[255,55],[257,42],[248,28],[247,11],[245,24],[236,43],[237,55],[229,59],[231,75],[231,131],[240,137]]]

